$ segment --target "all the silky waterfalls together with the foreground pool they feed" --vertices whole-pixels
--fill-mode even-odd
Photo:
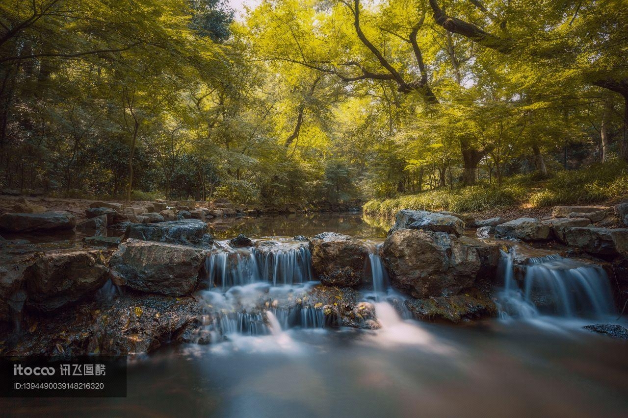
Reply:
[[[3,416],[628,416],[628,343],[581,328],[617,323],[600,267],[504,252],[501,319],[420,323],[390,287],[383,238],[358,215],[342,216],[296,220],[305,230],[258,218],[253,247],[218,241],[196,295],[212,343],[131,358],[126,399],[4,400]],[[313,296],[308,245],[290,237],[325,230],[369,247],[362,297],[379,330],[337,328]]]

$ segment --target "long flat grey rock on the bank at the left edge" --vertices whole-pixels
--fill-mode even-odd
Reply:
[[[77,221],[68,212],[4,213],[0,215],[0,229],[9,232],[41,232],[71,230]]]

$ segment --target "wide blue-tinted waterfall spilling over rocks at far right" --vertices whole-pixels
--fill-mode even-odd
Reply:
[[[514,257],[514,250],[502,252],[504,289],[498,295],[502,318],[539,314],[599,318],[612,313],[609,278],[599,265],[558,254],[532,257],[519,285],[514,276]]]

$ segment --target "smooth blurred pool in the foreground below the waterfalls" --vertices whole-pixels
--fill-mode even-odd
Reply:
[[[625,417],[628,343],[573,324],[290,330],[131,361],[126,399],[4,400],[3,416]]]

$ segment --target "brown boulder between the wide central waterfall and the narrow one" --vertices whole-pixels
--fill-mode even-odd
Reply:
[[[312,269],[328,286],[358,286],[364,279],[369,249],[363,242],[342,235],[324,232],[310,241]]]

